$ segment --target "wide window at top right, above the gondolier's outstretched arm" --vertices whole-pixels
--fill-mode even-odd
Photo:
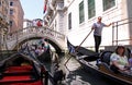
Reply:
[[[116,5],[116,0],[103,0],[103,11]]]

